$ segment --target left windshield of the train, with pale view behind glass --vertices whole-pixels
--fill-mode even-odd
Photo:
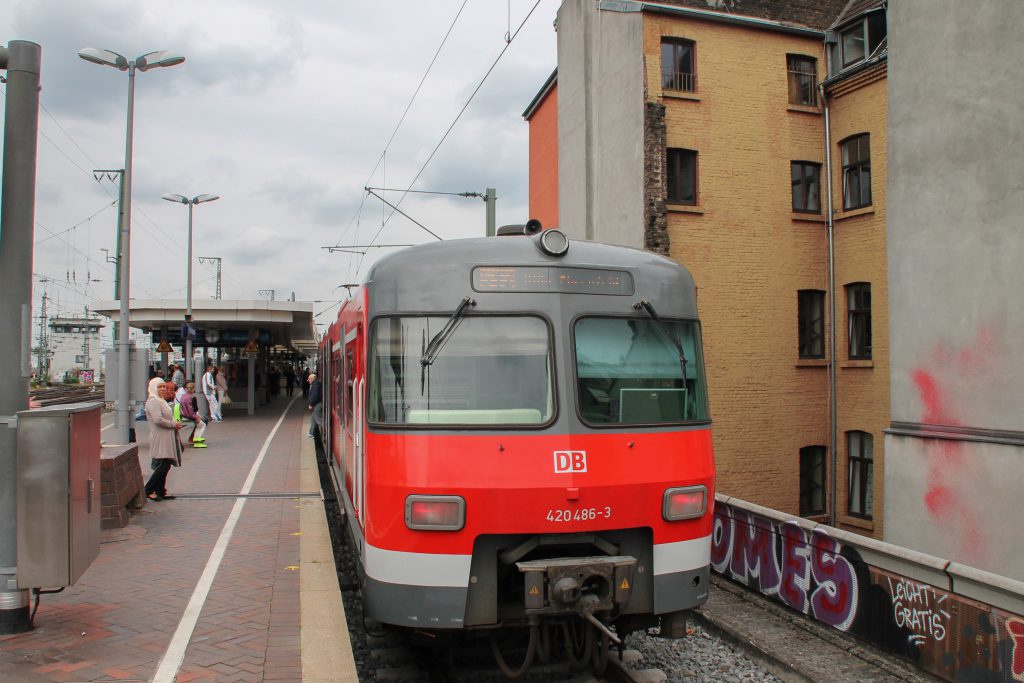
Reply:
[[[379,318],[368,418],[408,426],[546,424],[555,410],[550,338],[548,325],[528,315]]]

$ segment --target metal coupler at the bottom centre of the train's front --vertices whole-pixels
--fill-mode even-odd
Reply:
[[[516,562],[527,614],[593,613],[622,607],[633,595],[637,560],[628,555]]]

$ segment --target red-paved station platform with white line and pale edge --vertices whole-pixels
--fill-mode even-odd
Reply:
[[[34,630],[0,636],[0,680],[357,681],[308,425],[301,394],[210,423],[176,498],[104,530]]]

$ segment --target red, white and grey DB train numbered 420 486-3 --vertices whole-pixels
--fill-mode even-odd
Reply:
[[[552,626],[595,660],[630,631],[685,635],[715,500],[686,268],[536,221],[409,248],[318,367],[368,618],[524,627],[527,658]]]

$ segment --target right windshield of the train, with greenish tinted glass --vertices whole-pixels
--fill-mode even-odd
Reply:
[[[691,321],[577,322],[580,417],[592,425],[707,422],[700,328]]]

